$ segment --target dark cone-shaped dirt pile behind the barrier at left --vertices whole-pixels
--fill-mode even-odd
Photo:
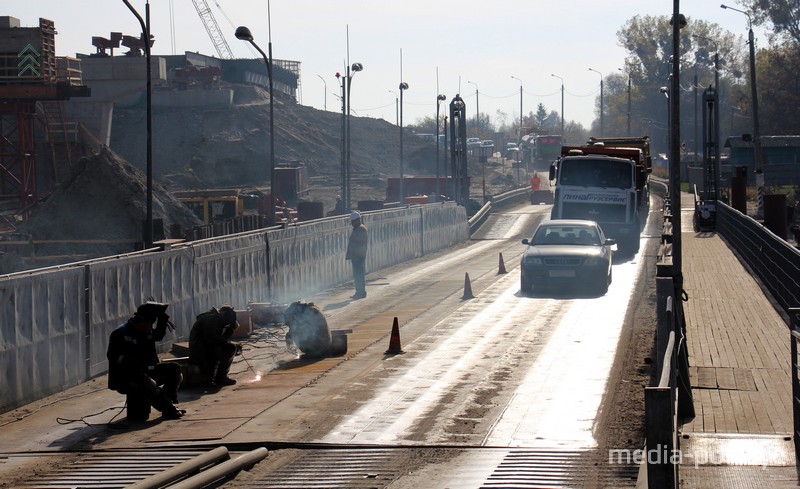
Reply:
[[[17,228],[34,240],[56,241],[49,252],[75,254],[77,243],[92,240],[93,256],[133,251],[147,217],[147,177],[113,151],[79,160],[69,179],[33,210]],[[168,230],[190,228],[197,217],[158,182],[153,182],[153,218]],[[168,236],[165,236],[168,237]],[[158,238],[158,236],[156,236]]]

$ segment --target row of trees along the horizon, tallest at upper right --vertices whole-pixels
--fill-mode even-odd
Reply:
[[[767,39],[756,38],[756,82],[762,135],[800,134],[800,2],[797,0],[739,0],[754,26]],[[734,15],[734,14],[730,14]],[[668,102],[672,73],[671,15],[635,15],[617,31],[626,51],[624,68],[604,76],[603,132],[606,136],[647,134],[655,150],[666,152]],[[700,148],[703,94],[719,78],[717,108],[721,142],[729,136],[752,133],[752,98],[747,32],[734,33],[716,23],[687,18],[681,29],[680,100],[681,139],[686,153]],[[467,120],[471,135],[490,137],[506,133],[516,137],[518,121],[500,111],[494,117],[480,114]],[[436,121],[416,122],[419,132],[435,132]],[[523,115],[523,127],[541,134],[560,134],[561,117],[539,104]],[[600,133],[600,96],[595,100],[595,120],[585,128],[565,121],[567,141],[582,142]],[[697,137],[696,137],[697,136]]]

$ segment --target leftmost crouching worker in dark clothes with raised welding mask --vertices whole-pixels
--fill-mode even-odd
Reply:
[[[156,353],[156,342],[164,339],[167,327],[172,328],[166,309],[167,304],[142,304],[108,342],[108,388],[128,396],[130,421],[146,421],[151,406],[166,419],[184,414],[175,407],[183,380],[180,366],[160,363]]]

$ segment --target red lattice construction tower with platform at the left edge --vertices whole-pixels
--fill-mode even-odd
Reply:
[[[46,142],[54,153],[74,130],[64,120],[62,102],[87,97],[75,58],[55,56],[55,25],[39,19],[39,27],[20,27],[14,17],[0,17],[0,210],[22,210],[36,202],[37,169],[34,128],[37,112]],[[75,138],[74,135],[71,136]],[[66,163],[69,164],[69,151]],[[59,153],[62,153],[59,151]],[[48,185],[58,180],[64,155],[55,157]]]

